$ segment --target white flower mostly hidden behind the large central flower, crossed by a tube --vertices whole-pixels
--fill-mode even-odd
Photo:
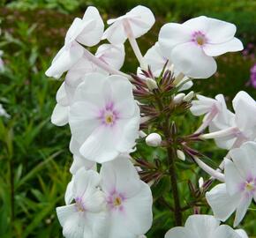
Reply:
[[[97,49],[95,56],[114,69],[119,70],[124,63],[124,45],[114,46],[111,44],[103,44]],[[79,62],[75,63],[70,71],[68,71],[64,83],[56,93],[57,103],[51,115],[51,123],[57,126],[63,126],[68,123],[68,114],[74,93],[79,84],[84,80],[85,75],[90,72],[109,74],[107,71],[103,71],[100,67],[89,61],[87,57],[83,56],[80,58]]]

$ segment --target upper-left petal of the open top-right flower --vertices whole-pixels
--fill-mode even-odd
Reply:
[[[158,42],[163,56],[171,60],[171,50],[177,45],[191,40],[191,30],[177,23],[168,23],[162,26]]]

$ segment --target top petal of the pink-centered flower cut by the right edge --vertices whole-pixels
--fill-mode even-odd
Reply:
[[[253,180],[256,177],[256,143],[245,142],[240,148],[230,151],[230,156],[239,171],[243,176],[244,182]]]

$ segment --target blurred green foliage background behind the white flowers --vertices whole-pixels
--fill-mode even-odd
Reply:
[[[165,22],[183,22],[206,15],[236,24],[237,37],[244,42],[245,50],[220,56],[215,76],[197,80],[193,90],[207,96],[223,93],[228,104],[240,90],[256,99],[256,90],[248,83],[250,68],[255,63],[255,0],[2,0],[0,3],[0,49],[4,51],[5,66],[0,73],[0,103],[11,115],[10,119],[0,117],[1,238],[62,237],[55,207],[64,205],[64,191],[71,179],[70,131],[67,126],[57,128],[49,122],[61,82],[46,78],[44,71],[64,43],[72,19],[82,17],[88,5],[96,6],[104,20],[122,15],[138,4],[148,6],[156,23],[150,33],[139,39],[143,53],[157,41]],[[122,70],[135,72],[138,64],[127,43],[126,47]],[[179,122],[180,133],[189,134],[199,124],[198,118],[186,115]],[[225,155],[213,142],[198,146],[215,160]],[[145,156],[155,156],[146,146],[144,150]],[[179,169],[182,181],[179,187],[184,197],[188,193],[184,181],[189,178],[196,184],[200,175],[207,178],[189,162],[181,163]],[[158,193],[166,193],[164,185],[162,190],[154,190],[156,196]],[[241,226],[251,236],[256,236],[255,210],[252,205]],[[172,214],[156,202],[154,217],[148,237],[163,237],[173,227]]]

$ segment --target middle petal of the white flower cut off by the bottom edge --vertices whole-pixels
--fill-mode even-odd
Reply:
[[[210,215],[192,215],[184,227],[192,234],[192,237],[206,238],[208,234],[213,234],[220,225],[220,221]]]

